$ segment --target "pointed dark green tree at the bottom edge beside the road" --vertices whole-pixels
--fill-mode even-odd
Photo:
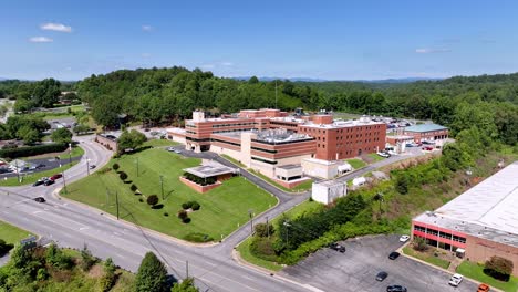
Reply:
[[[135,278],[136,292],[165,292],[167,286],[167,270],[164,263],[153,252],[147,252],[138,267]]]

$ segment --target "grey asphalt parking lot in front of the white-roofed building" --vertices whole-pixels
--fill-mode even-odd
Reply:
[[[398,236],[364,237],[341,243],[346,248],[344,253],[321,249],[281,274],[323,291],[386,291],[393,284],[418,292],[477,291],[477,285],[466,279],[458,288],[450,286],[450,274],[403,254],[390,260],[388,253],[403,244]],[[383,282],[375,280],[380,271],[388,273]]]

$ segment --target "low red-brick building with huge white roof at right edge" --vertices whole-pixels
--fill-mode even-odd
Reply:
[[[435,211],[412,221],[412,236],[473,262],[493,255],[515,263],[518,275],[518,161]]]

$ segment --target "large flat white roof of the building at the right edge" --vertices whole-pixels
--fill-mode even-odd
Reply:
[[[518,161],[416,221],[518,247]]]

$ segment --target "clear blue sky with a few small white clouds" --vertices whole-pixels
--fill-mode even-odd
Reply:
[[[325,80],[518,72],[517,1],[89,1],[0,4],[0,76],[118,69]]]

